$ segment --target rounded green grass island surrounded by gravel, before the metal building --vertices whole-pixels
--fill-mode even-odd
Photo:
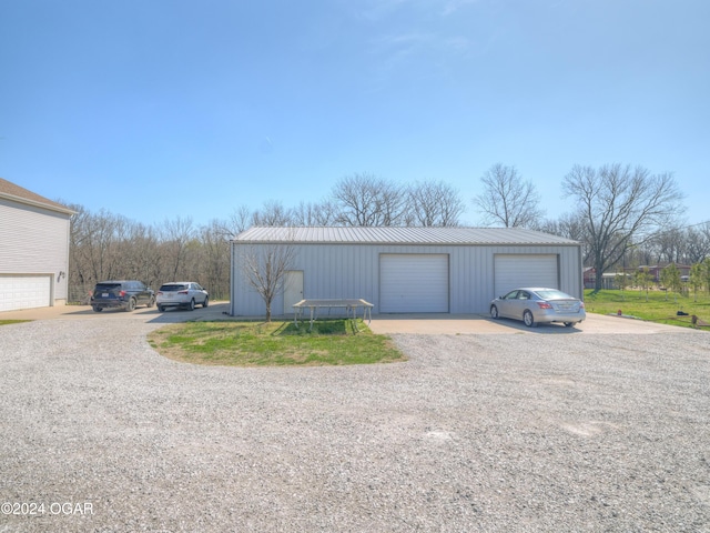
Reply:
[[[152,332],[149,342],[162,355],[195,364],[230,366],[323,366],[406,361],[388,336],[375,335],[362,320],[307,322],[200,321]]]

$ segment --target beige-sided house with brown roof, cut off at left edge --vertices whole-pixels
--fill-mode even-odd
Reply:
[[[0,178],[0,312],[65,303],[73,213]]]

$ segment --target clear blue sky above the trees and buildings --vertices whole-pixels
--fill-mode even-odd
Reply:
[[[708,0],[0,0],[0,177],[196,224],[344,175],[672,172],[710,219]]]

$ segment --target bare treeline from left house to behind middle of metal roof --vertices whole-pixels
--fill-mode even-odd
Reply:
[[[67,202],[62,202],[67,204]],[[98,281],[141,280],[153,289],[168,281],[196,281],[212,300],[229,298],[230,240],[253,225],[460,225],[465,203],[443,182],[399,185],[371,174],[342,179],[318,202],[286,208],[237,207],[229,219],[195,225],[189,218],[145,225],[121,214],[92,213],[67,204],[71,221],[69,300],[85,302]]]

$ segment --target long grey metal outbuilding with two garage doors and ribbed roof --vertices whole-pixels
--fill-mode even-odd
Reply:
[[[290,248],[274,315],[302,299],[363,299],[374,313],[486,313],[517,286],[582,298],[581,245],[508,228],[251,228],[232,240],[231,314],[260,315],[245,261]]]

